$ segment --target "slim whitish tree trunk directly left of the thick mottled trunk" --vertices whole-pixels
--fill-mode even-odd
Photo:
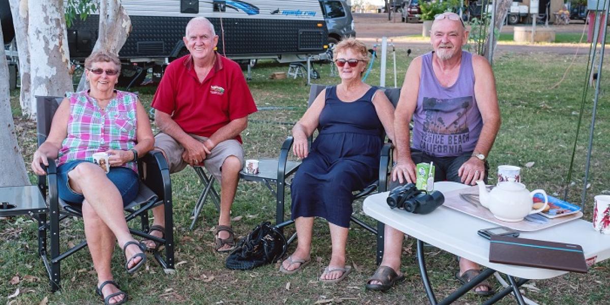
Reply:
[[[19,50],[19,74],[21,80],[19,104],[21,106],[21,112],[24,114],[29,114],[32,112],[32,94],[30,92],[30,40],[27,34],[18,34],[27,33],[27,1],[9,0],[9,2],[10,11],[13,15],[13,26],[15,27],[17,49]]]

